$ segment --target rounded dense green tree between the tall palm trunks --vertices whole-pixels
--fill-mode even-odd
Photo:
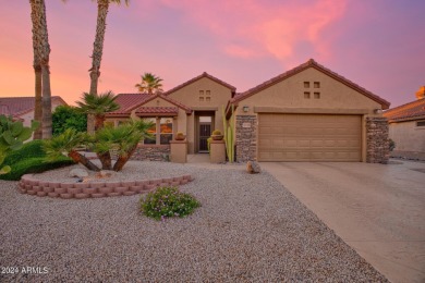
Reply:
[[[87,115],[77,108],[59,106],[52,115],[53,136],[62,134],[66,128],[74,128],[76,132],[86,132]]]

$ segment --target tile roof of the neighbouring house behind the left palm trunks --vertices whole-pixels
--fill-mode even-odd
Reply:
[[[51,97],[52,103],[68,106],[68,103],[60,96]],[[35,108],[35,97],[0,97],[0,114],[12,115],[19,118]]]

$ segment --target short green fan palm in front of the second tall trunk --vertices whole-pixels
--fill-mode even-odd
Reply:
[[[82,100],[76,101],[80,111],[92,114],[95,118],[95,131],[104,127],[105,114],[107,112],[117,111],[120,106],[116,103],[117,97],[112,91],[95,95],[84,93]]]

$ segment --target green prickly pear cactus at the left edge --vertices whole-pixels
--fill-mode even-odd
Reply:
[[[3,163],[7,153],[20,149],[38,126],[39,123],[35,121],[27,127],[21,121],[13,121],[11,116],[0,115],[0,164]],[[11,168],[5,165],[0,169],[0,175],[10,171]]]

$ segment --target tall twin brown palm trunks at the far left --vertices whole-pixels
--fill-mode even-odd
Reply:
[[[50,89],[50,45],[47,32],[46,4],[44,0],[29,0],[33,22],[34,71],[36,75],[35,120],[41,120],[42,138],[51,137],[51,89]],[[41,101],[41,103],[40,103]],[[40,107],[41,104],[41,107]],[[36,135],[39,137],[39,133]]]

